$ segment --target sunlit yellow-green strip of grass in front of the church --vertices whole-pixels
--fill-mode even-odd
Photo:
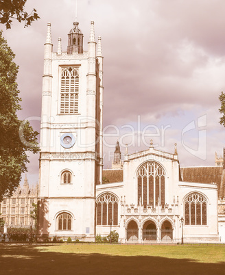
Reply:
[[[106,254],[110,256],[153,256],[168,259],[191,259],[199,263],[225,262],[224,246],[119,246],[95,244],[62,244],[61,246],[37,247],[42,252],[74,254]]]

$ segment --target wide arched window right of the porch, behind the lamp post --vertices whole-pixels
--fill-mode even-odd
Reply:
[[[207,224],[206,198],[199,193],[192,193],[185,198],[185,225]]]

